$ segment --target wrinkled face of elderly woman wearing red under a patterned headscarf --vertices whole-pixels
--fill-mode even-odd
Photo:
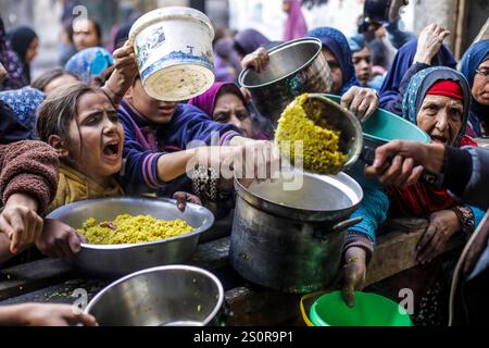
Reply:
[[[417,114],[417,125],[434,142],[452,146],[462,129],[462,100],[444,96],[426,96]]]

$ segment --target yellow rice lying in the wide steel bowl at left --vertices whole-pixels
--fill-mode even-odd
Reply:
[[[151,215],[131,216],[128,214],[118,215],[111,222],[100,223],[90,217],[84,223],[83,228],[78,229],[87,237],[89,244],[95,245],[155,241],[192,231],[193,228],[183,220],[165,221],[156,220]]]

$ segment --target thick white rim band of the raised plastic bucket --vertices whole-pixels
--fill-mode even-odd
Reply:
[[[147,27],[167,20],[185,20],[204,24],[211,33],[211,40],[215,37],[211,20],[201,11],[186,7],[167,7],[150,11],[140,16],[129,30],[129,42],[134,44],[136,37]]]

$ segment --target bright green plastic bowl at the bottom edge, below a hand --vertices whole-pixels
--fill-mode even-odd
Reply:
[[[355,293],[355,307],[349,308],[340,291],[321,296],[311,307],[314,326],[413,326],[408,312],[388,298]]]

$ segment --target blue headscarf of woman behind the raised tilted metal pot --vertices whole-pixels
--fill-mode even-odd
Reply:
[[[333,55],[335,55],[343,75],[343,83],[340,90],[341,96],[352,86],[360,86],[348,39],[341,32],[330,27],[321,27],[312,29],[308,33],[308,36],[321,39],[323,46],[329,49]]]

